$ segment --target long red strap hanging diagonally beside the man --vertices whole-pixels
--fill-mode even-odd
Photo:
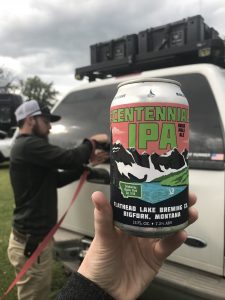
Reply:
[[[65,213],[62,215],[58,223],[49,231],[49,233],[46,235],[46,237],[43,239],[43,241],[38,245],[37,249],[34,251],[34,253],[31,255],[31,257],[26,261],[25,265],[23,268],[20,270],[20,272],[17,274],[16,278],[14,281],[10,284],[8,287],[7,291],[3,294],[2,298],[0,300],[3,300],[9,292],[14,288],[16,283],[20,280],[20,278],[27,272],[27,270],[32,266],[32,264],[37,260],[38,256],[41,254],[43,249],[46,247],[48,242],[52,239],[53,235],[55,234],[56,230],[59,228],[59,226],[62,224],[63,220],[65,219],[69,209],[72,207],[73,203],[75,202],[85,180],[87,179],[88,171],[85,170],[84,173],[82,174],[79,184],[77,186],[77,189],[74,192],[73,198],[70,202],[69,207],[65,211]]]

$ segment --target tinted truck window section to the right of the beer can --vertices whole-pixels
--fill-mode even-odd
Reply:
[[[190,105],[190,168],[224,169],[220,115],[207,79],[201,74],[167,78],[181,83]]]

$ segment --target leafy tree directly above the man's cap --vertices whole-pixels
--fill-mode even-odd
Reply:
[[[26,80],[20,80],[20,91],[27,100],[35,99],[39,103],[52,107],[57,101],[59,94],[53,87],[53,82],[46,83],[38,76],[29,77]]]

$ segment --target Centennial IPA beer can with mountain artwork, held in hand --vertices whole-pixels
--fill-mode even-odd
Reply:
[[[119,84],[110,124],[115,225],[141,237],[185,228],[189,105],[181,84],[161,78]]]

